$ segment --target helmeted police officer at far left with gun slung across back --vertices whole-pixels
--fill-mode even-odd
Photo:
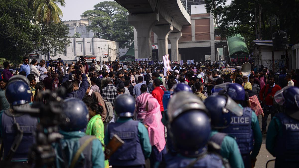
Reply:
[[[28,161],[28,152],[35,143],[33,135],[38,120],[37,117],[19,113],[14,109],[30,108],[32,94],[29,80],[22,75],[11,77],[6,85],[5,96],[11,108],[0,112],[3,160],[5,163],[13,161],[14,164],[22,164]],[[0,154],[2,152],[1,150]]]

